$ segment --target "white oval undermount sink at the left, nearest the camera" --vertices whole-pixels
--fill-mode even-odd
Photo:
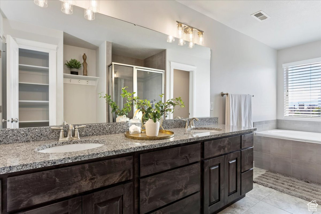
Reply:
[[[39,147],[37,151],[42,153],[64,153],[94,149],[103,145],[101,141],[97,140],[65,141],[44,145]]]

